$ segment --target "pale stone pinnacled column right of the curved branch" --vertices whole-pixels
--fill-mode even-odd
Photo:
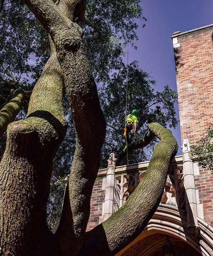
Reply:
[[[187,139],[185,139],[183,142],[182,150],[187,224],[190,233],[192,233],[192,235],[196,235],[196,227],[198,227],[196,191],[194,182],[193,161],[191,160],[190,153],[190,143]]]

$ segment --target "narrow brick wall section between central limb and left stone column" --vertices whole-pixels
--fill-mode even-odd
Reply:
[[[86,231],[89,231],[99,224],[99,217],[102,215],[102,205],[104,202],[105,191],[102,190],[102,179],[95,181],[90,201],[90,216]]]

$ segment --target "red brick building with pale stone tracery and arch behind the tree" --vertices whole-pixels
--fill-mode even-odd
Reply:
[[[182,155],[175,157],[161,204],[145,230],[117,256],[161,256],[169,238],[175,256],[213,255],[213,175],[191,160],[196,143],[213,122],[213,24],[172,36],[175,53]],[[99,170],[88,229],[121,207],[144,177],[149,162]],[[169,254],[164,254],[169,255]]]

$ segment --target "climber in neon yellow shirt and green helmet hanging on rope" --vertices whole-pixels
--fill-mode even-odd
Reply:
[[[129,114],[128,116],[126,116],[126,134],[124,132],[124,134],[127,136],[127,144],[131,144],[132,142],[132,136],[131,134],[135,134],[136,132],[136,126],[137,126],[137,122],[138,119],[136,117],[137,115],[137,110],[133,109],[131,114]]]

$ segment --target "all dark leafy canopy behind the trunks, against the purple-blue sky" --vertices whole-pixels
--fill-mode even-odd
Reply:
[[[127,112],[132,108],[138,110],[137,140],[142,139],[147,133],[144,116],[154,109],[157,103],[161,104],[164,111],[164,125],[177,125],[174,108],[176,92],[168,86],[165,86],[164,91],[156,92],[155,80],[139,68],[137,61],[128,66],[124,63],[125,47],[128,44],[134,47],[134,41],[138,40],[138,24],[142,27],[145,25],[146,18],[142,15],[139,3],[140,1],[133,0],[89,0],[84,16],[77,19],[83,29],[83,42],[93,76],[99,84],[101,108],[107,123],[117,130],[107,127],[100,167],[106,166],[110,152],[115,152],[118,157],[125,147],[125,140],[121,134],[125,119],[127,68]],[[32,88],[49,57],[49,38],[37,18],[20,0],[2,1],[0,18],[3,21],[0,24],[0,105],[4,106],[17,89],[23,90],[25,98],[20,106],[21,112],[17,116],[17,119],[21,119],[26,116]],[[68,129],[53,165],[48,208],[49,212],[55,214],[48,215],[50,227],[53,227],[60,217],[58,208],[63,198],[63,179],[69,174],[75,152],[75,127],[67,97],[64,98],[64,108]],[[149,160],[155,144],[156,140],[153,140],[146,149],[135,149],[129,157],[130,163]],[[2,140],[1,155],[4,149],[5,140]],[[126,163],[125,158],[121,163]]]

